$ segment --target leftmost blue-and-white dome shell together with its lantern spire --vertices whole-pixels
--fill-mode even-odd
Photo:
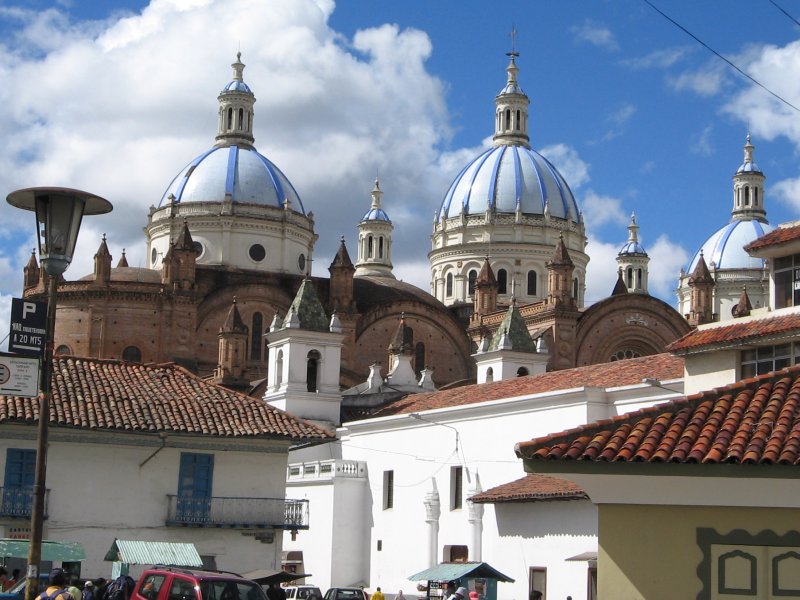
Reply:
[[[241,53],[233,79],[220,92],[215,145],[187,164],[172,180],[159,206],[170,202],[239,202],[289,208],[305,214],[289,179],[253,146],[255,96],[243,79]]]

